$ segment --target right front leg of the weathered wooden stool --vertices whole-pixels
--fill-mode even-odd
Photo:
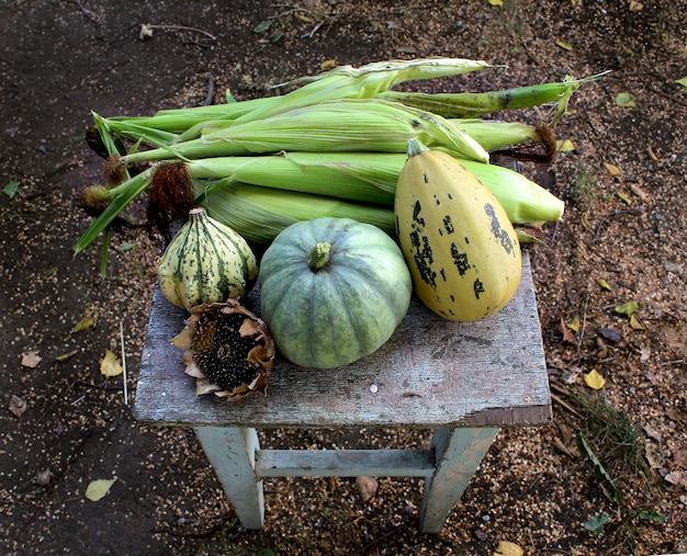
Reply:
[[[420,531],[439,533],[472,475],[496,438],[498,429],[437,429],[431,440],[436,469],[425,481]]]

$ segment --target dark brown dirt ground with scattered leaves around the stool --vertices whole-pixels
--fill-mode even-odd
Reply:
[[[687,553],[687,94],[676,82],[687,11],[493,3],[0,2],[0,553],[492,555],[502,541],[528,555]],[[417,531],[421,480],[385,478],[365,502],[352,479],[269,480],[266,526],[246,531],[193,433],[133,418],[160,242],[114,234],[104,279],[101,243],[72,256],[90,222],[80,191],[102,170],[83,140],[90,112],[218,103],[226,89],[248,99],[326,60],[420,56],[504,66],[441,90],[612,70],[556,128],[574,150],[523,166],[566,202],[531,251],[554,422],[502,431],[439,535]],[[630,302],[633,318],[617,310]],[[75,331],[83,319],[93,326]],[[106,350],[120,354],[121,330],[126,400],[121,377],[100,370]],[[584,381],[593,371],[600,390]],[[374,442],[415,439],[382,431]],[[113,477],[103,499],[85,497]],[[613,488],[620,506],[605,496]]]

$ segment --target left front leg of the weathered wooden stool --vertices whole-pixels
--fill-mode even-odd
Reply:
[[[195,435],[241,525],[262,529],[264,499],[262,480],[255,473],[258,433],[250,428],[195,427]]]

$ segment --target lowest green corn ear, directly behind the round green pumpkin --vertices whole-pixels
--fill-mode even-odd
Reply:
[[[280,231],[302,220],[331,216],[372,224],[392,235],[393,209],[244,183],[195,184],[200,206],[216,220],[257,243],[271,242]],[[205,194],[212,191],[212,194]]]

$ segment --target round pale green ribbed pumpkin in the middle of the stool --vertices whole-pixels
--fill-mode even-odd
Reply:
[[[413,291],[401,249],[381,229],[317,218],[284,229],[260,264],[260,311],[281,354],[333,368],[376,351]]]

